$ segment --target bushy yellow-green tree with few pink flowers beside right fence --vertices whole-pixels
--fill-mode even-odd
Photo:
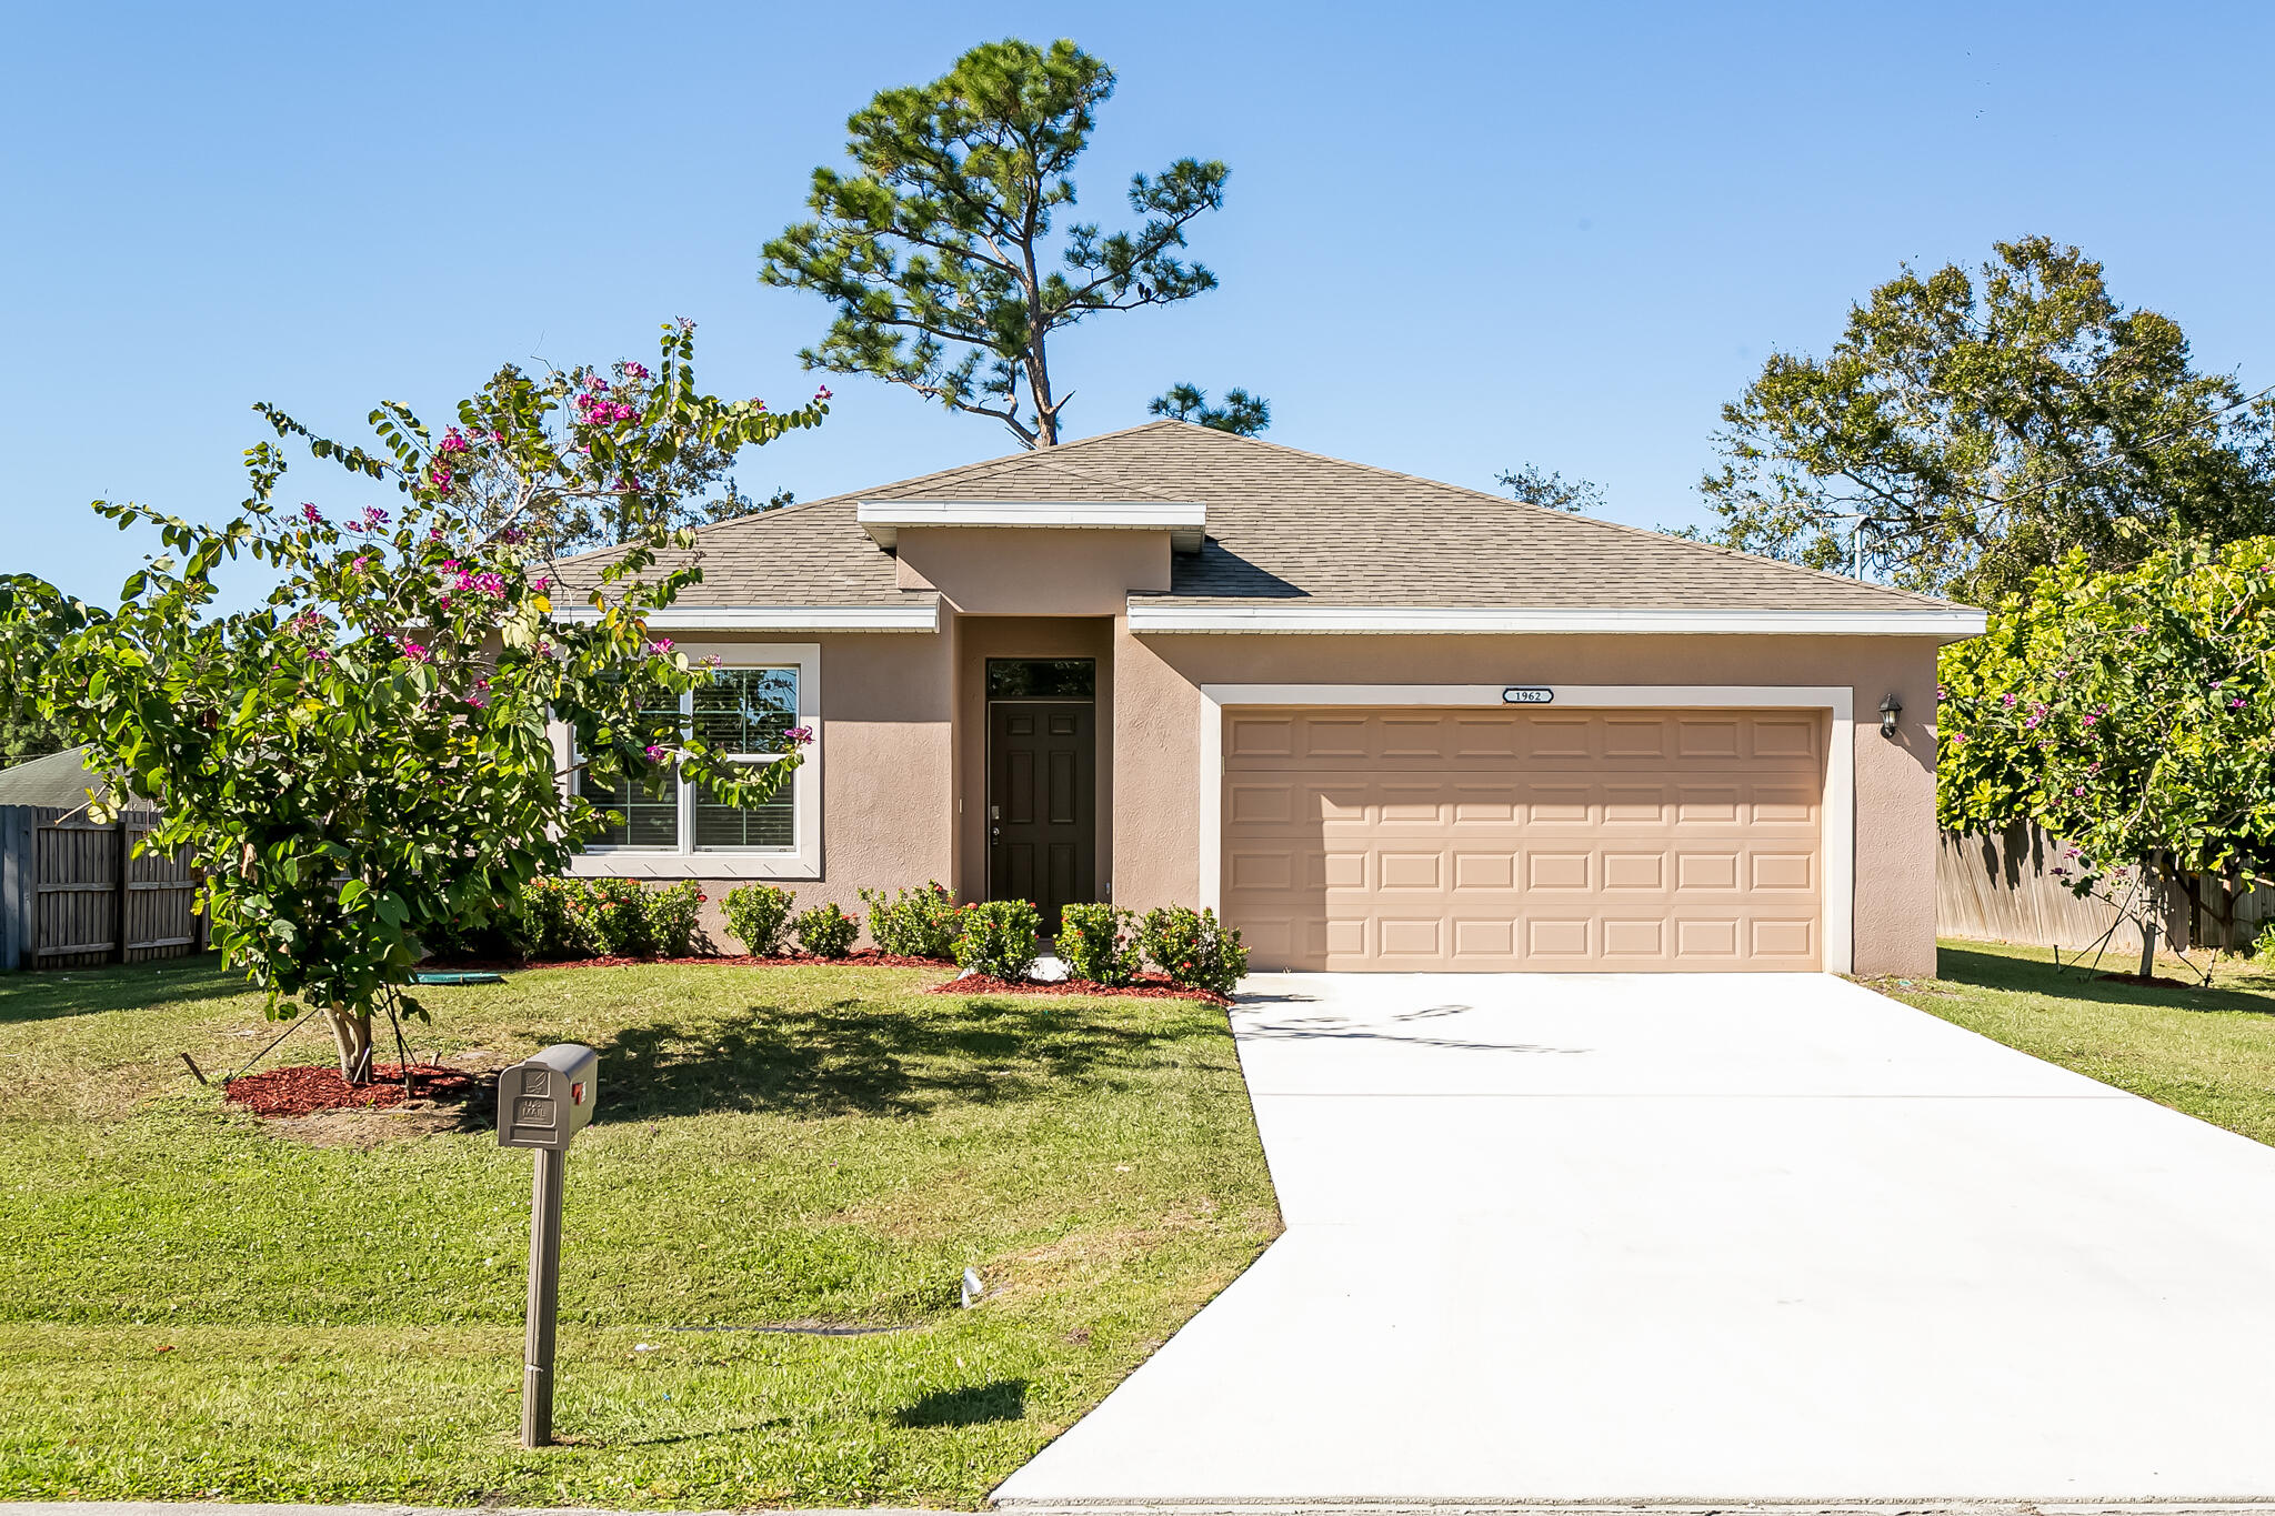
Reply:
[[[2054,868],[2141,927],[2175,880],[2275,873],[2275,536],[2038,570],[1943,650],[1936,811],[1956,832],[2036,823]]]

